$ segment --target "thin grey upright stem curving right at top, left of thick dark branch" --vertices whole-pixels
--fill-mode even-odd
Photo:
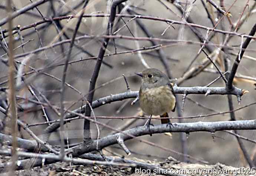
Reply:
[[[67,57],[66,57],[66,61],[65,61],[65,66],[64,66],[64,70],[63,70],[63,75],[62,75],[62,86],[61,86],[61,91],[60,91],[60,141],[61,141],[61,149],[60,149],[60,158],[63,159],[64,156],[65,156],[65,153],[64,153],[64,94],[65,94],[65,81],[66,81],[66,74],[67,74],[67,70],[68,70],[68,62],[69,62],[69,59],[70,59],[70,55],[71,55],[71,51],[72,51],[72,47],[73,47],[73,44],[74,44],[74,41],[75,41],[75,37],[76,37],[76,33],[79,29],[79,26],[81,24],[81,21],[82,21],[82,17],[83,17],[83,14],[85,12],[85,7],[86,5],[88,4],[89,0],[85,0],[85,4],[83,5],[83,9],[82,9],[82,12],[79,16],[79,19],[78,19],[78,22],[76,23],[76,28],[75,28],[75,31],[73,33],[73,36],[72,36],[72,40],[70,42],[70,46],[69,46],[69,50],[68,50],[68,54],[67,54]]]

